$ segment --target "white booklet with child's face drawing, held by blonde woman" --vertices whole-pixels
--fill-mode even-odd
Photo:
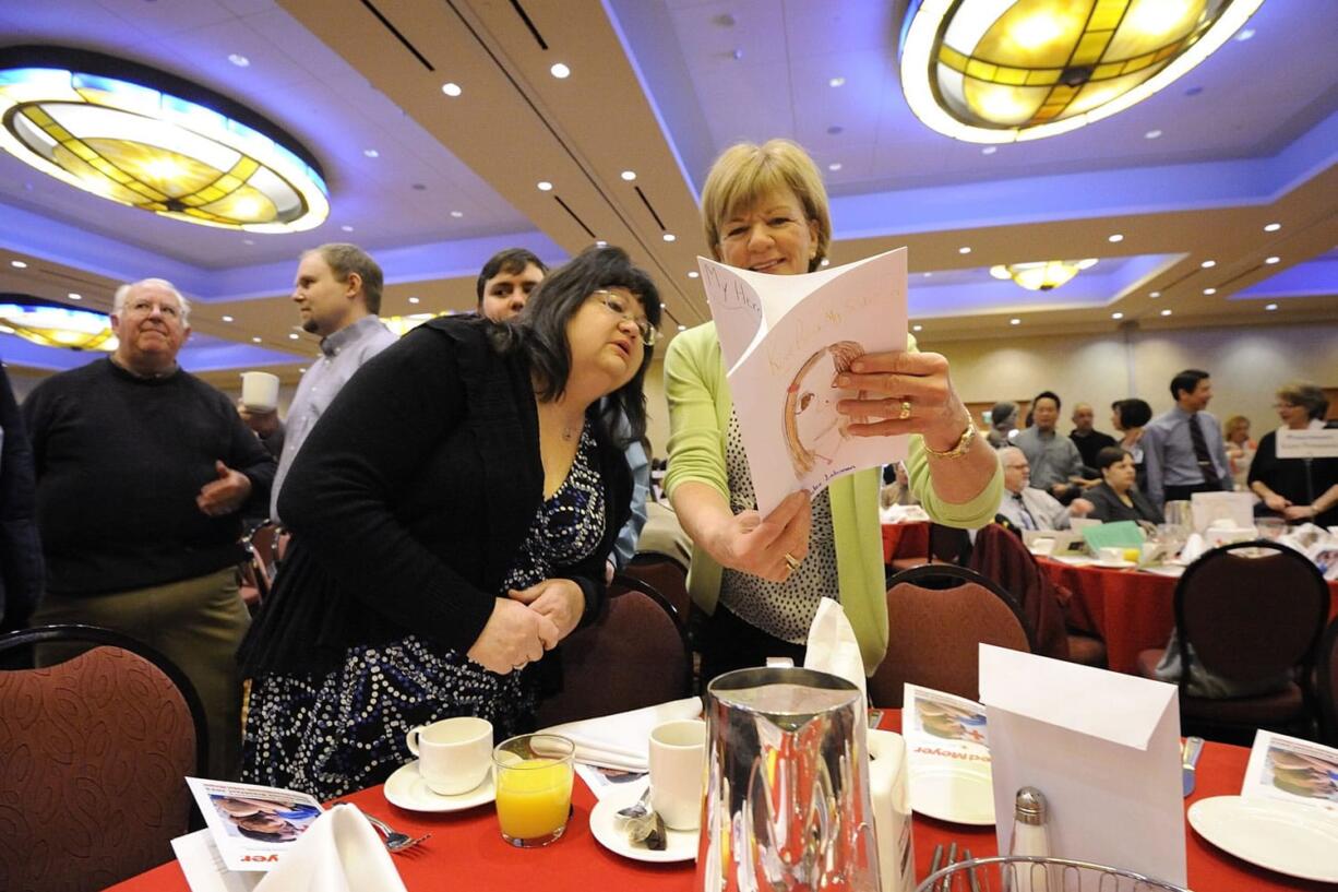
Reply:
[[[803,276],[697,257],[764,516],[789,493],[816,494],[906,457],[906,437],[851,437],[836,411],[859,391],[836,375],[863,354],[906,350],[906,249]]]

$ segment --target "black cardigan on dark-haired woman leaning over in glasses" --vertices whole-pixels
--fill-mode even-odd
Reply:
[[[280,494],[293,545],[242,646],[248,675],[329,671],[351,647],[411,632],[472,647],[543,501],[529,363],[499,355],[490,325],[420,325],[368,362],[312,430]],[[595,431],[603,536],[554,572],[585,592],[582,621],[603,605],[605,560],[632,498],[622,450]]]

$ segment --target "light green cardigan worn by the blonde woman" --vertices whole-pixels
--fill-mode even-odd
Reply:
[[[911,339],[910,350],[915,350]],[[665,355],[665,395],[669,399],[669,470],[665,492],[686,481],[714,488],[729,498],[725,470],[725,438],[733,399],[725,382],[725,366],[714,323],[682,332]],[[929,459],[919,435],[911,435],[907,471],[911,492],[939,524],[977,528],[994,520],[1004,493],[1004,471],[995,470],[985,489],[970,502],[945,502],[930,485]],[[840,603],[859,640],[864,671],[872,674],[887,652],[887,597],[883,579],[883,536],[878,518],[876,467],[838,477],[828,485],[832,533],[836,541],[836,581]],[[688,591],[708,613],[720,597],[721,567],[705,549],[693,544]]]

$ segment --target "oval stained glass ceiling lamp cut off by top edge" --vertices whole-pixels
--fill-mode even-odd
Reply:
[[[1207,59],[1263,0],[911,0],[902,90],[966,142],[1042,139],[1124,111]]]

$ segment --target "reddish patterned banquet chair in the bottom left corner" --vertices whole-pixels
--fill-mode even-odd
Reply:
[[[0,671],[0,889],[102,889],[169,861],[190,829],[205,711],[153,648],[94,625],[0,636],[0,652],[90,647]]]

